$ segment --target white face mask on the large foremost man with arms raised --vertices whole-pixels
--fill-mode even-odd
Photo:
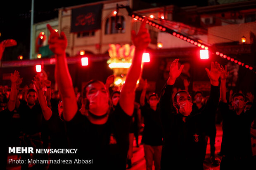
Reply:
[[[102,116],[107,113],[109,109],[108,93],[97,91],[97,93],[88,95],[88,100],[90,101],[89,112],[96,116]]]

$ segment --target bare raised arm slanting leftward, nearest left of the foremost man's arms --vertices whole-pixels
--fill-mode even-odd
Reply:
[[[34,77],[34,80],[32,80],[32,82],[36,86],[38,101],[41,106],[43,116],[44,116],[45,120],[49,120],[52,116],[52,110],[47,106],[47,101],[46,101],[45,95],[43,93],[43,81],[40,80],[40,78],[38,76],[36,76],[36,77]]]

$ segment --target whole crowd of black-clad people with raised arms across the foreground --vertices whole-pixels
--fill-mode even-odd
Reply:
[[[65,34],[56,33],[50,25],[49,48],[55,54],[55,81],[38,75],[28,86],[20,87],[22,76],[14,71],[11,87],[0,86],[0,114],[3,151],[1,169],[7,166],[8,147],[75,148],[76,154],[19,154],[21,160],[83,159],[91,164],[21,164],[21,170],[125,170],[131,168],[133,140],[143,144],[147,170],[203,170],[208,138],[211,163],[220,170],[256,168],[251,138],[256,138],[254,95],[229,92],[227,67],[217,62],[206,68],[211,83],[209,96],[197,91],[193,98],[185,89],[173,87],[184,65],[175,59],[161,95],[147,92],[143,81],[140,101],[135,102],[135,88],[141,74],[142,54],[150,43],[146,18],[136,34],[132,31],[135,55],[121,90],[112,91],[114,75],[105,83],[90,80],[78,92],[73,87],[66,62]],[[187,84],[187,83],[186,83]],[[175,88],[175,89],[174,89]],[[215,158],[216,113],[221,115],[223,137],[221,162]],[[18,118],[18,119],[17,119]],[[19,121],[17,121],[19,120]],[[12,129],[10,125],[15,125]],[[9,128],[10,127],[10,128]],[[140,129],[143,128],[139,142]],[[255,144],[254,146],[255,147]]]

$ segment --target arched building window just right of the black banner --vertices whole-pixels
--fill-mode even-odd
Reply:
[[[105,24],[105,34],[116,34],[125,33],[126,22],[123,16],[118,16],[117,23],[121,23],[122,30],[116,29],[116,16],[111,16],[106,20]]]

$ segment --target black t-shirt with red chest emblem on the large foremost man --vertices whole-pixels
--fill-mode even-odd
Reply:
[[[119,104],[102,125],[91,123],[78,111],[71,121],[66,122],[70,147],[78,149],[73,159],[93,159],[93,163],[78,164],[77,167],[125,170],[131,119]]]

